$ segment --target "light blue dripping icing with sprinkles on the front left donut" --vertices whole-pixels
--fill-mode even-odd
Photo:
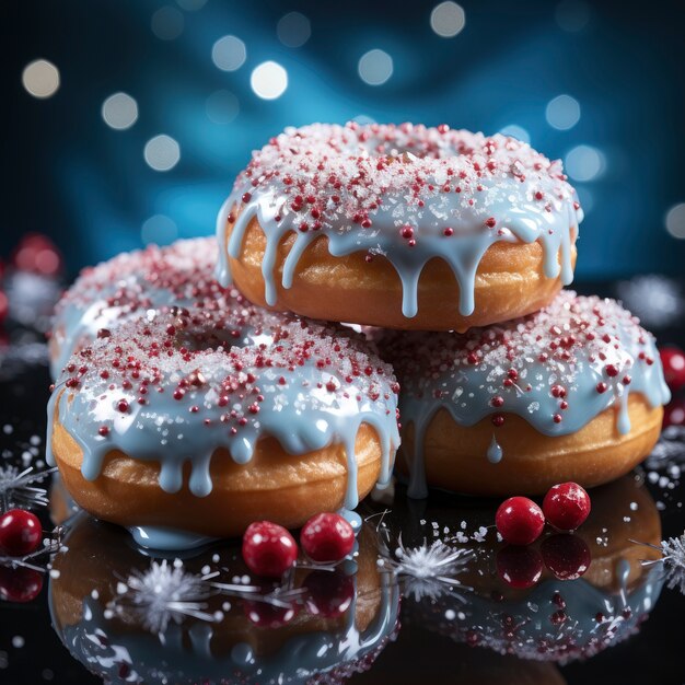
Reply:
[[[159,462],[159,484],[167,492],[183,487],[188,463],[190,491],[206,497],[212,490],[210,463],[220,448],[247,464],[266,436],[293,455],[341,444],[348,467],[344,506],[355,509],[361,426],[380,439],[381,484],[390,479],[399,444],[392,370],[368,356],[351,333],[246,307],[241,315],[228,322],[230,309],[187,317],[159,313],[151,321],[124,323],[77,352],[48,404],[49,461],[58,421],[83,452],[84,478],[97,478],[105,456],[120,450]],[[186,350],[185,357],[178,350],[198,340],[211,345]],[[173,349],[172,357],[155,356],[160,347]],[[129,368],[117,370],[121,360]],[[105,379],[102,369],[109,370]]]

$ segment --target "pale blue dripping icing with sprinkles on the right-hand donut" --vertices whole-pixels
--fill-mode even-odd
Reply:
[[[460,426],[515,414],[554,437],[578,432],[612,407],[626,434],[631,393],[650,407],[671,396],[654,337],[618,303],[571,291],[512,322],[466,334],[388,333],[384,347],[402,386],[403,422],[415,428],[415,498],[428,492],[422,448],[440,409]]]

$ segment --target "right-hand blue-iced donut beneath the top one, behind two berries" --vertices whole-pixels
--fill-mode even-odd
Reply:
[[[381,345],[402,387],[411,497],[607,483],[650,453],[670,398],[653,336],[617,302],[572,291],[504,324]]]

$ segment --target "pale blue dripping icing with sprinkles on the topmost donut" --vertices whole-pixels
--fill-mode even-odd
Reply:
[[[421,146],[423,156],[408,154]],[[491,173],[486,171],[489,165]],[[419,190],[413,189],[415,176],[421,182]],[[309,202],[313,208],[307,213]],[[545,276],[570,283],[572,242],[582,211],[560,162],[549,162],[513,139],[410,125],[312,125],[287,129],[255,152],[219,211],[217,276],[223,286],[231,282],[229,257],[240,257],[254,218],[266,236],[262,271],[267,304],[277,302],[281,240],[294,235],[280,279],[288,289],[300,257],[323,234],[333,256],[385,256],[402,281],[403,314],[414,317],[420,274],[436,257],[450,266],[458,283],[460,313],[472,314],[478,264],[498,242],[539,241]],[[494,225],[487,223],[490,218]],[[399,236],[402,227],[416,236],[411,246]],[[453,231],[450,237],[445,227]]]

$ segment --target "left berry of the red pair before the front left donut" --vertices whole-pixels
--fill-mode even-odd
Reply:
[[[278,523],[256,521],[243,535],[243,559],[255,576],[280,578],[294,566],[298,544]]]

